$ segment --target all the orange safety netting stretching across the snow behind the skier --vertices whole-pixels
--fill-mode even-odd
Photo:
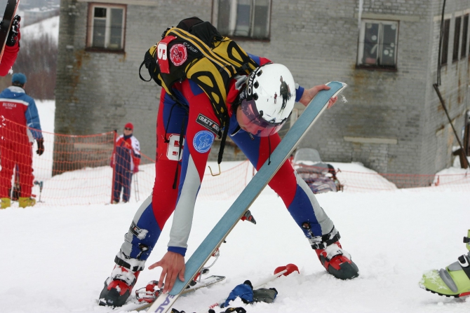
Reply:
[[[28,197],[29,193],[36,201],[48,205],[112,202],[116,167],[110,164],[116,151],[115,132],[90,136],[42,132],[44,152],[38,155],[37,143],[28,137],[27,127],[3,117],[0,122],[1,197],[16,200],[18,197]],[[130,181],[130,202],[144,200],[152,193],[154,163],[152,158],[142,153],[139,172],[133,174]],[[213,172],[217,173],[217,164],[210,164],[213,164]],[[128,170],[131,171],[130,167]],[[248,160],[223,162],[221,175],[213,176],[209,170],[206,171],[199,197],[204,200],[236,197],[253,173]],[[467,174],[378,174],[373,171],[340,170],[336,176],[344,192],[423,187],[433,190],[470,190],[470,175]],[[2,192],[5,195],[1,195]]]

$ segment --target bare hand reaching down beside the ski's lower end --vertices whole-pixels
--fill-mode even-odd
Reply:
[[[163,279],[165,279],[163,293],[168,293],[168,291],[173,288],[176,277],[180,278],[180,281],[184,281],[184,269],[186,265],[184,265],[184,256],[180,253],[168,251],[161,260],[150,265],[149,270],[155,267],[161,267],[159,288],[163,286]]]

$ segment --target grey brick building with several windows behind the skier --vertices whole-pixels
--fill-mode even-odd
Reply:
[[[285,64],[300,85],[349,85],[348,102],[325,111],[300,146],[381,173],[434,174],[451,165],[457,145],[433,88],[440,41],[439,90],[459,136],[469,109],[470,5],[446,1],[443,36],[442,6],[443,0],[61,0],[55,130],[121,131],[130,121],[142,152],[153,157],[160,89],[141,81],[138,69],[166,27],[198,16],[248,52]],[[237,152],[229,149],[224,160]]]

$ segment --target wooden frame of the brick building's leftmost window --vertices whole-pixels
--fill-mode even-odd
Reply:
[[[93,30],[94,30],[94,13],[95,8],[106,8],[107,11],[112,8],[121,8],[123,10],[123,20],[122,20],[122,32],[121,32],[121,48],[114,49],[108,47],[94,47],[93,46]],[[106,25],[107,28],[109,27],[109,23],[111,19],[106,18]],[[87,25],[87,32],[86,32],[86,50],[88,51],[95,51],[95,52],[106,52],[106,53],[124,53],[126,48],[126,22],[127,22],[127,5],[126,4],[106,4],[106,3],[97,3],[92,2],[88,4],[88,25]],[[109,37],[110,32],[105,33],[105,44],[109,44]]]

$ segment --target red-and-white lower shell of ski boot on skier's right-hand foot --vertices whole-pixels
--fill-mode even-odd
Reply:
[[[344,251],[340,242],[330,244],[325,249],[315,249],[326,271],[338,279],[353,279],[359,276],[359,269],[351,260],[351,255]]]

